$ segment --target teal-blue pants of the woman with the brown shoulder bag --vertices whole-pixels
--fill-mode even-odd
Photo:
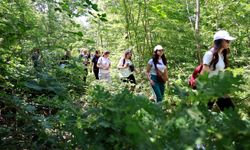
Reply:
[[[152,88],[154,89],[156,100],[157,102],[161,102],[164,97],[164,91],[165,91],[165,84],[161,83],[157,80],[156,75],[151,74],[151,80],[154,81],[154,85],[152,85]]]

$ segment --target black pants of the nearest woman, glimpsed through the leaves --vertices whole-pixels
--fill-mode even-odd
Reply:
[[[212,109],[213,108],[213,105],[214,105],[215,101],[213,102],[208,102],[207,106],[208,106],[208,109]],[[225,108],[232,108],[234,109],[234,104],[231,100],[231,98],[229,97],[221,97],[221,98],[218,98],[217,101],[216,101],[216,104],[218,105],[218,107],[220,108],[221,111],[224,111]]]

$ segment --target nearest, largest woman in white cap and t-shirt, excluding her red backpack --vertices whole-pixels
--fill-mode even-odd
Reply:
[[[201,74],[208,72],[209,78],[218,75],[220,71],[228,67],[229,46],[235,38],[230,36],[227,31],[221,30],[215,33],[213,40],[213,47],[203,57],[203,68],[201,70]],[[224,108],[234,108],[233,102],[227,96],[218,98],[216,104],[222,111]],[[214,101],[210,101],[208,108],[211,109],[213,105]]]

